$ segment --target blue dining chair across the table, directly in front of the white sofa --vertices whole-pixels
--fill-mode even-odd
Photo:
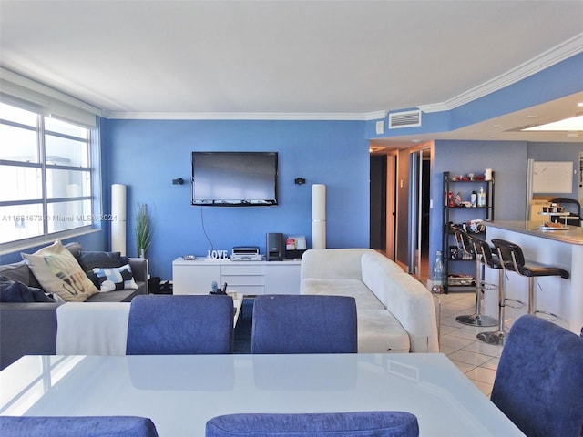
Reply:
[[[347,296],[261,295],[251,353],[356,353],[356,301]]]

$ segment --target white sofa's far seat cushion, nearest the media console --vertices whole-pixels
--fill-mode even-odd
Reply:
[[[303,279],[302,294],[349,296],[356,300],[357,310],[384,310],[383,303],[360,279]]]

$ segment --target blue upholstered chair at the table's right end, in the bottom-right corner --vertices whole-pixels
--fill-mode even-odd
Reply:
[[[537,316],[520,317],[490,399],[528,437],[583,435],[583,338]]]

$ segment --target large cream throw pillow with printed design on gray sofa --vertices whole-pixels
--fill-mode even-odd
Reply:
[[[77,259],[57,239],[54,244],[22,254],[36,279],[48,293],[56,293],[67,302],[84,302],[98,292]]]

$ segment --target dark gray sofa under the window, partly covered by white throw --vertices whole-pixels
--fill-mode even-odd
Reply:
[[[129,302],[138,294],[148,294],[148,260],[120,257],[116,253],[86,251],[78,243],[66,245],[84,271],[97,267],[129,264],[138,289],[98,292],[86,302]],[[114,264],[119,264],[115,266]],[[0,277],[27,287],[42,289],[25,261],[0,266]],[[0,302],[0,369],[24,355],[55,354],[56,309],[63,303],[46,301]]]

